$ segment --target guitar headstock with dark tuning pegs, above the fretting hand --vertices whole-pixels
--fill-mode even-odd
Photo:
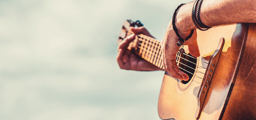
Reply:
[[[121,31],[119,33],[119,37],[118,37],[118,44],[127,36],[131,35],[133,32],[130,30],[130,27],[140,27],[143,26],[143,24],[141,23],[141,21],[137,20],[137,21],[132,21],[131,19],[127,19],[123,22],[122,24],[122,28]]]

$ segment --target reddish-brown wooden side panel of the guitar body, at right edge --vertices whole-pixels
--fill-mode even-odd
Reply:
[[[256,119],[256,24],[249,24],[244,52],[222,119]]]

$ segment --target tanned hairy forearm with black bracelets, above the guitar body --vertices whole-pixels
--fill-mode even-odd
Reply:
[[[194,1],[183,5],[177,13],[176,24],[182,31],[196,28],[191,16],[193,4]],[[207,26],[256,23],[256,0],[203,0],[200,18]]]

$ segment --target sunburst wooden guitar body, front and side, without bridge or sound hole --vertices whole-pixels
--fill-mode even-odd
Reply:
[[[248,23],[197,30],[201,54],[197,66],[207,67],[219,39],[225,39],[199,119],[256,119],[255,36],[256,24]],[[162,119],[196,119],[198,92],[206,70],[196,67],[188,83],[164,75],[158,101]]]

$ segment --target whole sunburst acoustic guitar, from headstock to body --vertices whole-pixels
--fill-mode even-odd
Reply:
[[[118,42],[132,34],[140,21],[124,21]],[[164,74],[158,114],[161,119],[256,119],[256,24],[238,23],[197,30],[200,56],[184,46],[177,53],[180,70],[189,80]],[[136,34],[128,49],[145,60],[163,67],[161,43]]]

